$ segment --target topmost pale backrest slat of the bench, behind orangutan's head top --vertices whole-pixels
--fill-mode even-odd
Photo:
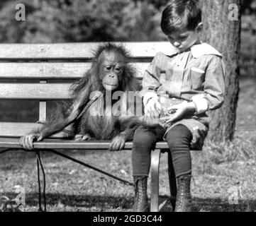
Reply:
[[[102,42],[57,44],[0,44],[0,60],[6,59],[91,59]],[[154,57],[157,52],[168,54],[169,42],[116,42],[124,44],[132,57]]]

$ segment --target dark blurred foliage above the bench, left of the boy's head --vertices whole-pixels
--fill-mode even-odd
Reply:
[[[15,6],[26,6],[16,21]],[[160,11],[145,1],[9,1],[0,11],[1,42],[162,40]]]

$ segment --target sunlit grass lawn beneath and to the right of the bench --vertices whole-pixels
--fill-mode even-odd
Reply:
[[[235,140],[218,147],[205,145],[193,153],[191,192],[194,211],[256,210],[256,79],[240,81]],[[223,150],[225,153],[223,154]],[[131,151],[108,153],[70,151],[69,155],[132,181]],[[133,187],[50,153],[42,153],[46,172],[48,211],[130,211]],[[167,155],[162,155],[160,195],[169,195]],[[15,198],[16,186],[25,188],[26,211],[38,210],[34,153],[13,151],[0,155],[0,196]],[[148,191],[148,194],[150,192]],[[238,198],[236,205],[228,200]],[[165,210],[169,210],[169,207]]]

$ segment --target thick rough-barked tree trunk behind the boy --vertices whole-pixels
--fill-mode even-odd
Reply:
[[[225,102],[221,109],[209,114],[208,139],[213,142],[232,141],[239,92],[241,0],[201,0],[201,4],[204,23],[202,40],[218,49],[226,64]],[[238,20],[233,20],[232,8],[228,8],[230,4],[238,6]]]

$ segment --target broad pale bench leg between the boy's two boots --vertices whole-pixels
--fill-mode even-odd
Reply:
[[[150,212],[158,212],[159,203],[159,165],[160,165],[161,150],[156,149],[152,152],[151,157],[151,184],[150,184]]]

